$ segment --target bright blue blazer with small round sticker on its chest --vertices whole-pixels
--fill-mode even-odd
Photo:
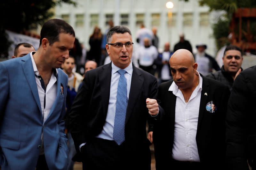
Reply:
[[[30,54],[0,62],[2,170],[34,170],[42,133],[49,169],[67,169],[68,148],[62,118],[65,115],[68,76],[58,69],[56,78],[57,97],[44,122]],[[60,84],[64,87],[64,94],[61,94]]]

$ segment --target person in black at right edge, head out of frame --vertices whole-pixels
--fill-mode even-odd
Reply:
[[[252,170],[256,167],[256,66],[235,79],[226,117],[227,169]],[[248,163],[247,163],[248,161]]]

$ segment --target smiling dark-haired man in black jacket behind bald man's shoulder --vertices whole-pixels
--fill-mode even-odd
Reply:
[[[221,70],[210,73],[206,77],[228,85],[231,91],[236,76],[243,70],[241,68],[243,59],[242,50],[236,46],[229,45],[225,49],[224,56],[222,57],[223,66]]]

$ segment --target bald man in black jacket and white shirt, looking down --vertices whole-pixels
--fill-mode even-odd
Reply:
[[[199,74],[191,52],[170,58],[172,78],[159,85],[164,109],[154,124],[156,169],[215,169],[225,157],[228,86]],[[210,111],[215,104],[215,112]]]

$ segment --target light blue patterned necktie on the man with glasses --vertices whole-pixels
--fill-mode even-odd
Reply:
[[[114,122],[114,131],[113,131],[113,139],[114,141],[120,145],[124,142],[124,122],[127,108],[127,88],[126,88],[126,78],[124,74],[125,70],[118,70],[120,74],[120,78],[117,86],[116,93],[116,115]]]

